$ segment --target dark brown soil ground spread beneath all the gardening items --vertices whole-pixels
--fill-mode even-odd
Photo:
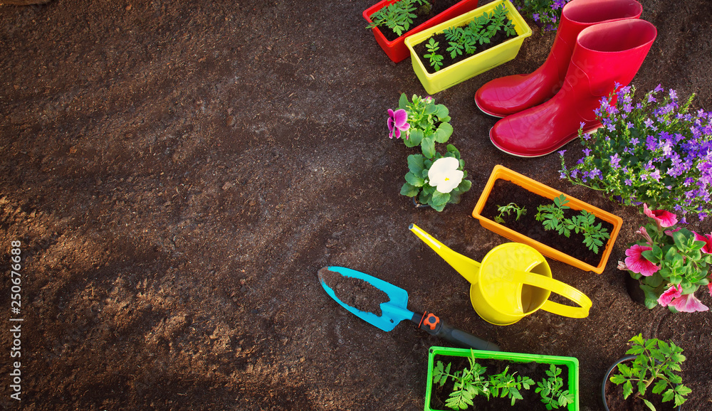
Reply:
[[[434,95],[473,181],[436,213],[399,195],[414,150],[387,138],[386,110],[401,92],[426,92],[365,29],[372,3],[0,6],[0,408],[422,410],[428,348],[446,341],[342,309],[317,277],[338,265],[506,351],[578,358],[582,410],[600,409],[602,375],[629,338],[672,339],[687,356],[685,409],[712,409],[711,314],[636,305],[616,269],[646,219],[561,181],[556,155],[519,159],[488,140],[496,119],[474,93],[538,68],[554,33],[534,28],[515,60]],[[696,108],[712,110],[712,3],[642,3],[658,37],[633,84],[696,92]],[[577,142],[567,149],[579,158]],[[471,218],[496,164],[626,222],[601,275],[549,260],[594,302],[586,319],[538,311],[488,324],[466,280],[409,232],[416,223],[475,260],[506,242]],[[710,222],[691,228],[709,233]]]

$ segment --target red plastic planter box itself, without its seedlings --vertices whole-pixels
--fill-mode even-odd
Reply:
[[[373,23],[373,21],[371,20],[371,16],[373,14],[375,14],[380,9],[383,9],[385,6],[389,6],[395,3],[396,1],[399,0],[379,1],[377,4],[374,4],[373,6],[370,6],[368,9],[365,9],[363,11],[363,18],[365,18],[369,24]],[[404,43],[405,38],[407,38],[408,36],[412,36],[413,34],[418,33],[419,31],[425,30],[426,28],[430,28],[432,26],[435,26],[436,24],[442,23],[443,21],[449,20],[456,16],[460,16],[461,14],[476,9],[477,2],[478,0],[458,1],[456,4],[454,4],[454,6],[451,6],[445,11],[436,14],[424,23],[412,27],[409,31],[406,31],[402,34],[402,36],[394,40],[389,41],[378,27],[374,27],[371,30],[373,31],[373,36],[375,36],[376,38],[376,42],[379,44],[379,46],[381,46],[388,58],[393,60],[394,63],[399,63],[408,57],[408,48],[405,46]]]

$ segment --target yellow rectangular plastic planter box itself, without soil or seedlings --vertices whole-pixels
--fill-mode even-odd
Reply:
[[[455,63],[446,68],[442,68],[435,73],[428,73],[425,65],[415,53],[414,46],[437,33],[442,33],[447,28],[464,26],[474,18],[484,13],[492,13],[493,9],[500,4],[504,4],[507,8],[507,17],[512,21],[517,31],[517,36],[510,38],[504,43],[498,44],[493,48],[484,50],[481,53],[471,55],[465,60]],[[502,63],[512,60],[519,53],[519,49],[524,42],[524,39],[531,36],[532,30],[527,26],[522,16],[510,1],[500,0],[493,1],[485,6],[478,7],[473,11],[463,14],[459,17],[452,18],[444,23],[438,24],[432,28],[416,33],[405,39],[405,44],[410,50],[410,57],[413,62],[413,70],[422,82],[425,91],[429,94],[445,90],[448,87],[464,82],[474,76],[484,73],[491,68],[495,68]],[[442,48],[443,50],[445,48]]]

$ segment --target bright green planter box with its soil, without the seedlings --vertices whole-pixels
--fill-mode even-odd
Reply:
[[[434,400],[434,396],[437,395],[436,391],[439,386],[434,387],[433,382],[433,368],[436,361],[442,361],[443,363],[456,363],[456,361],[464,360],[466,363],[466,358],[473,353],[474,357],[477,359],[478,363],[488,367],[486,372],[487,375],[493,375],[494,373],[501,372],[501,370],[493,370],[493,367],[501,367],[509,365],[510,372],[513,368],[521,367],[523,368],[523,373],[518,373],[518,375],[523,374],[532,378],[535,383],[529,390],[522,390],[520,393],[525,398],[524,400],[519,400],[515,405],[523,406],[523,401],[530,401],[533,404],[538,404],[543,409],[543,404],[540,401],[540,395],[535,393],[536,383],[546,377],[545,370],[548,370],[549,364],[557,365],[562,368],[562,377],[565,380],[564,389],[568,390],[569,393],[574,395],[574,401],[567,407],[561,407],[560,410],[568,411],[578,411],[579,410],[579,362],[577,358],[573,357],[562,357],[562,356],[539,356],[535,354],[525,354],[525,353],[505,353],[501,351],[479,351],[479,350],[469,350],[466,348],[447,348],[447,347],[431,347],[428,354],[428,379],[425,391],[425,411],[446,411],[449,408],[437,407],[434,403],[439,402]],[[539,366],[542,364],[543,366]],[[455,368],[453,369],[455,370]],[[444,395],[446,396],[446,395]],[[498,399],[503,400],[503,399]],[[493,400],[490,400],[492,402]],[[509,400],[503,400],[506,402],[504,407],[510,407]],[[477,402],[476,402],[477,404]],[[475,408],[473,408],[475,409]]]

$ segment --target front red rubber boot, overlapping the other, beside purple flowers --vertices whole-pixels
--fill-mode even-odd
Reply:
[[[630,84],[656,36],[655,26],[644,20],[585,28],[561,90],[541,105],[499,120],[490,129],[490,140],[508,154],[538,157],[575,139],[579,128],[592,132],[601,127],[594,111],[602,97],[609,97],[616,83]]]

